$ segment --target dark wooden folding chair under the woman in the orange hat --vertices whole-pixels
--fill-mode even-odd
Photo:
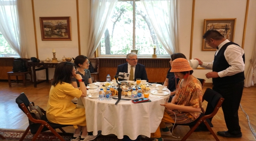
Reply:
[[[213,127],[211,121],[209,118],[212,118],[217,114],[219,108],[221,107],[221,104],[224,101],[224,98],[219,94],[218,92],[215,92],[214,90],[207,88],[206,91],[204,92],[203,100],[206,100],[208,103],[211,103],[211,106],[214,108],[213,112],[209,115],[204,115],[204,113],[201,113],[200,116],[193,122],[191,123],[186,123],[186,124],[175,124],[170,130],[174,129],[177,127],[177,125],[184,125],[184,126],[189,126],[190,130],[187,132],[187,134],[182,138],[181,141],[186,141],[186,139],[195,131],[195,129],[201,124],[204,123],[210,133],[213,135],[216,141],[219,141],[218,137],[216,134],[213,132],[211,127]]]

